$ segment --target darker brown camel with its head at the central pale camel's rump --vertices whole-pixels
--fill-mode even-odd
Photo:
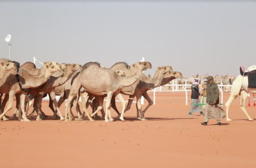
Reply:
[[[43,85],[41,85],[38,88],[30,89],[28,92],[29,94],[34,95],[34,98],[35,98],[33,107],[36,110],[36,112],[38,113],[37,118],[36,118],[37,121],[41,120],[41,118],[40,118],[41,110],[40,109],[41,109],[41,103],[42,103],[42,98],[44,97],[44,93],[50,94],[51,100],[54,103],[54,106],[60,116],[60,120],[64,120],[64,117],[62,116],[62,114],[59,110],[59,106],[58,106],[58,103],[55,98],[54,88],[59,87],[60,85],[63,85],[72,76],[72,74],[75,71],[81,69],[81,65],[67,64],[66,66],[63,66],[63,67],[65,69],[63,72],[63,75],[58,76],[58,77],[51,76],[49,78],[49,80],[46,81],[46,83],[44,83]],[[56,114],[53,116],[53,119],[55,119],[55,120],[57,119]]]

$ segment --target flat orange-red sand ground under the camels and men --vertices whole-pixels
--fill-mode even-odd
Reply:
[[[215,120],[210,120],[209,126],[202,126],[204,117],[187,116],[189,106],[184,105],[184,95],[157,93],[156,105],[146,113],[148,121],[134,120],[133,103],[125,113],[125,122],[64,122],[50,117],[28,123],[0,122],[0,165],[3,168],[256,167],[256,121],[247,120],[239,108],[239,98],[230,107],[233,121],[224,119],[223,125],[217,126]],[[228,96],[224,94],[224,102]],[[117,105],[121,109],[120,103]],[[47,106],[44,102],[43,110],[50,115]],[[64,113],[64,106],[60,109]],[[247,110],[256,119],[255,107]],[[111,113],[116,116],[113,110]]]

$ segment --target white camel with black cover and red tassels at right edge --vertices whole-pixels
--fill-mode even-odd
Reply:
[[[248,67],[248,69],[247,69],[247,71],[253,71],[253,70],[256,70],[256,65],[252,65],[252,66]],[[232,121],[228,117],[229,106],[233,102],[233,100],[235,98],[237,98],[238,95],[240,96],[240,108],[246,114],[246,116],[248,117],[248,120],[253,121],[253,119],[248,115],[248,113],[245,109],[245,100],[248,96],[248,91],[252,94],[255,94],[256,93],[256,88],[248,89],[248,76],[238,75],[236,77],[236,79],[233,81],[229,99],[225,103],[226,111],[227,111],[227,121]]]

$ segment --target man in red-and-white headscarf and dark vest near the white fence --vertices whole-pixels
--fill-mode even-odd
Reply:
[[[199,100],[199,95],[201,95],[199,93],[199,79],[195,78],[194,82],[191,86],[191,106],[189,109],[189,113],[188,116],[194,116],[192,113],[196,113],[196,112],[200,112],[200,116],[204,116],[205,114],[202,112],[202,106],[194,106],[194,104],[200,104],[200,100]]]

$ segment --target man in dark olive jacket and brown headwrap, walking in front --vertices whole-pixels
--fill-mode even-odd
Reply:
[[[217,125],[221,125],[221,119],[225,117],[225,112],[219,105],[219,88],[214,83],[213,77],[207,77],[206,86],[206,108],[205,108],[205,122],[202,125],[207,125],[210,118],[215,118],[217,120]]]

